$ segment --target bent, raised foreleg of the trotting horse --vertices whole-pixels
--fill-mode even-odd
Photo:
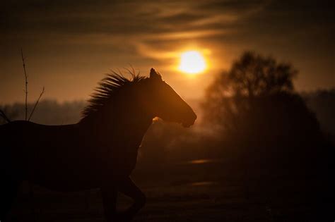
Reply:
[[[129,177],[118,183],[117,188],[119,192],[134,199],[134,204],[124,212],[124,221],[131,221],[136,213],[146,204],[146,195],[143,194],[139,187],[137,187]]]

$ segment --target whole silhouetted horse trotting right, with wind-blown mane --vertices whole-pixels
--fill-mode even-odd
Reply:
[[[76,124],[0,125],[0,221],[23,180],[60,192],[100,188],[106,220],[131,221],[146,196],[130,175],[156,117],[186,128],[196,121],[192,108],[151,68],[149,77],[107,74]],[[134,200],[124,214],[116,211],[117,192]]]

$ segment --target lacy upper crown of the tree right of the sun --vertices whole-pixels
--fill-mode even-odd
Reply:
[[[254,97],[278,92],[293,92],[293,78],[298,71],[289,63],[277,63],[271,56],[264,57],[247,51],[223,72],[208,89],[208,96],[225,95]]]

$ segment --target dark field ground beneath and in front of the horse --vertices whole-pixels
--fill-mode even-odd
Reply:
[[[221,160],[139,168],[134,180],[148,202],[134,221],[334,221],[334,187],[303,173],[266,172],[239,171]],[[22,190],[11,221],[105,221],[99,190]],[[120,196],[120,210],[129,203]]]

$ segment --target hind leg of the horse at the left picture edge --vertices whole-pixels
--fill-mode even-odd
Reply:
[[[0,183],[0,221],[6,221],[11,206],[18,192],[18,183],[9,177],[1,178]]]

